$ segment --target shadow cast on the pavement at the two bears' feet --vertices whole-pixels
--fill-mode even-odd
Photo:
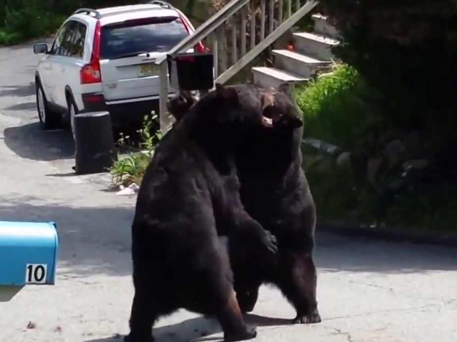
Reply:
[[[290,325],[290,320],[265,317],[254,314],[244,315],[246,324],[256,327],[272,327]],[[194,341],[194,342],[209,342],[209,341],[224,341],[222,329],[215,319],[199,316],[186,319],[182,322],[159,326],[153,330],[156,341],[175,342],[175,341]],[[215,335],[216,336],[212,336]],[[85,340],[84,342],[118,342],[122,341],[123,336],[115,334],[110,338]]]

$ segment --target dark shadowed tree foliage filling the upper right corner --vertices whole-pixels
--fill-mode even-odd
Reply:
[[[335,53],[384,94],[384,121],[427,132],[441,171],[457,174],[457,1],[322,0],[342,34]]]

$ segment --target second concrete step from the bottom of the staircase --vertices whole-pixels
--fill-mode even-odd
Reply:
[[[317,69],[331,63],[295,51],[272,50],[272,53],[275,56],[275,67],[304,78],[309,78]]]

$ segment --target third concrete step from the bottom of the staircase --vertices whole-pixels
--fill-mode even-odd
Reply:
[[[340,43],[336,39],[310,32],[294,33],[293,39],[296,51],[327,61],[333,58],[330,49]]]

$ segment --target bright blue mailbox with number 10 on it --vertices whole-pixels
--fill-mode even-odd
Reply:
[[[0,301],[25,285],[54,285],[57,249],[54,222],[0,221]]]

